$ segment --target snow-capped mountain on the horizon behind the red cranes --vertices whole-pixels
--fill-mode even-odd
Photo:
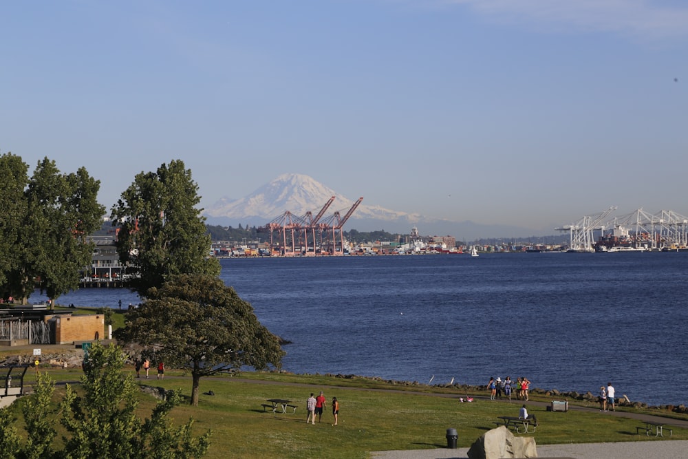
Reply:
[[[298,217],[311,212],[316,215],[334,196],[334,202],[323,219],[338,211],[343,217],[354,204],[351,200],[320,182],[298,173],[279,175],[244,198],[223,198],[204,211],[206,223],[223,226],[262,226],[275,220],[286,211]],[[357,197],[358,198],[358,197]],[[321,220],[322,221],[322,220]],[[418,226],[424,235],[455,235],[464,237],[503,237],[504,235],[531,235],[532,230],[512,226],[486,226],[473,222],[451,222],[425,217],[418,213],[391,211],[381,206],[367,204],[365,200],[356,208],[345,229],[358,231],[385,230],[390,233],[408,234]]]

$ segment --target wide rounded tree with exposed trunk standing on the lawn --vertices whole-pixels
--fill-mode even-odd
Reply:
[[[279,367],[284,355],[250,303],[209,275],[180,275],[149,290],[147,301],[127,313],[117,338],[148,346],[170,367],[188,369],[192,405],[198,405],[202,376],[242,365]]]

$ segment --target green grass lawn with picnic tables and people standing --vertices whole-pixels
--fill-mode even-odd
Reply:
[[[50,370],[56,380],[76,379],[78,370]],[[168,372],[164,381],[153,376],[140,384],[191,392],[191,380]],[[249,378],[252,380],[249,381]],[[30,378],[28,378],[30,379]],[[260,379],[262,381],[255,381]],[[343,387],[346,386],[346,387]],[[403,389],[403,390],[380,390]],[[305,423],[305,401],[311,392],[325,392],[327,408],[322,423]],[[413,392],[420,390],[422,392]],[[197,432],[213,430],[209,458],[367,458],[369,451],[446,447],[448,428],[458,431],[458,446],[469,447],[496,427],[497,416],[518,416],[521,403],[477,400],[460,403],[458,392],[449,389],[397,387],[369,379],[343,379],[322,375],[242,373],[236,377],[202,378],[198,407],[182,405],[173,410],[178,422],[195,419]],[[213,391],[210,396],[204,392]],[[438,396],[444,394],[445,396]],[[449,395],[449,396],[446,396]],[[462,394],[464,395],[464,394]],[[332,426],[330,401],[340,403],[339,425]],[[268,398],[286,398],[298,405],[296,414],[264,412]],[[539,398],[548,401],[546,398]],[[153,399],[141,395],[142,414],[149,416]],[[291,411],[291,410],[289,410]],[[621,442],[649,440],[636,434],[637,420],[598,411],[548,412],[530,405],[539,427],[538,445],[568,442]],[[656,414],[656,413],[655,413]],[[685,417],[684,417],[685,418]],[[671,437],[688,439],[688,431],[674,429]],[[653,438],[654,440],[654,438]],[[669,441],[658,439],[657,441]]]

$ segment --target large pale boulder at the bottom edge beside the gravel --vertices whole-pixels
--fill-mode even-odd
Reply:
[[[469,459],[537,458],[535,438],[517,437],[506,427],[488,430],[469,449]]]

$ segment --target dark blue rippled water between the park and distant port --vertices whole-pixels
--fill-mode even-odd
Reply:
[[[223,259],[222,279],[292,341],[285,370],[686,403],[688,253]],[[32,301],[40,299],[39,295]],[[58,302],[117,307],[128,290]]]

